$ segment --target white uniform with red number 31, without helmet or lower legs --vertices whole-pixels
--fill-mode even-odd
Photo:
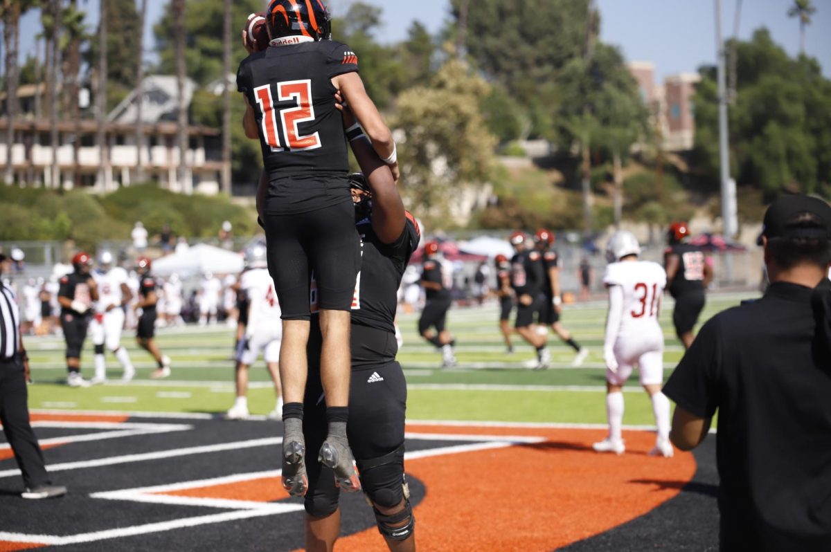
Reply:
[[[643,385],[663,383],[664,335],[658,323],[666,271],[652,261],[620,261],[606,267],[609,311],[603,356],[607,379],[622,385],[637,364]]]

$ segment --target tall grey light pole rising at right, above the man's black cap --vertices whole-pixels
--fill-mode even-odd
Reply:
[[[727,135],[727,87],[725,85],[725,43],[721,36],[721,0],[715,0],[715,41],[719,56],[719,154],[721,165],[721,223],[725,240],[731,240],[738,231],[736,220],[735,180],[730,178],[730,144]],[[733,280],[733,259],[725,255],[725,280]]]

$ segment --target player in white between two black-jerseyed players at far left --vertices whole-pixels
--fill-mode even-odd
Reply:
[[[92,271],[92,277],[98,284],[98,301],[95,315],[90,322],[92,344],[95,347],[96,374],[91,383],[106,381],[106,359],[104,348],[110,349],[124,369],[122,381],[129,382],[135,376],[135,368],[130,361],[127,349],[121,346],[121,330],[124,330],[124,305],[130,302],[133,294],[127,285],[128,276],[120,266],[113,266],[111,252],[101,252],[98,266]]]

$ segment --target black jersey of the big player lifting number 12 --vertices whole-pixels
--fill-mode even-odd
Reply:
[[[410,213],[401,237],[393,243],[381,242],[368,218],[357,222],[357,229],[361,235],[361,273],[352,302],[352,323],[394,333],[401,276],[418,247],[420,230]]]

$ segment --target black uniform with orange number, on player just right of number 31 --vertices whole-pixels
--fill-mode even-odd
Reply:
[[[706,257],[701,247],[687,243],[676,243],[666,250],[666,255],[677,255],[679,259],[676,276],[669,282],[670,295],[676,300],[672,311],[672,323],[676,334],[687,334],[696,326],[701,310],[704,309],[704,266]]]

